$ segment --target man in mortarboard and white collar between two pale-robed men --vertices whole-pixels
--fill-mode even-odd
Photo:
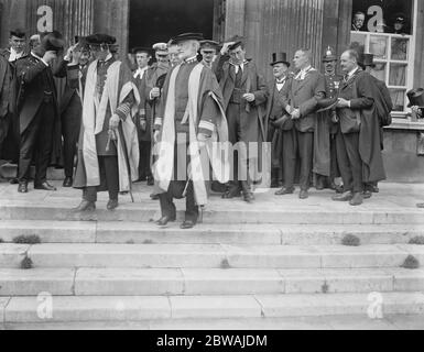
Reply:
[[[146,117],[148,105],[148,70],[149,62],[152,58],[149,47],[135,47],[132,50],[135,55],[137,69],[134,70],[135,85],[140,94],[139,112],[134,119],[137,132],[139,135],[140,146],[140,164],[139,164],[139,182],[149,180],[151,183],[151,144],[152,144],[152,122]]]

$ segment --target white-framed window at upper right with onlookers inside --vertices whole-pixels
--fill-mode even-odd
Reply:
[[[413,88],[413,14],[414,0],[354,0],[350,46],[374,54],[371,75],[385,81],[399,116]]]

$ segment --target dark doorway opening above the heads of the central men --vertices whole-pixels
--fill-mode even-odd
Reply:
[[[214,33],[214,0],[130,0],[129,47],[167,42],[186,32]]]

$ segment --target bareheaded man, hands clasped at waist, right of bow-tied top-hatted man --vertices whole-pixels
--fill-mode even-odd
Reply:
[[[293,78],[287,92],[284,94],[283,107],[294,120],[296,130],[296,150],[298,151],[300,162],[300,187],[301,199],[308,198],[311,176],[314,163],[314,138],[317,123],[317,103],[325,97],[325,79],[311,65],[311,52],[298,50],[294,55],[294,65],[298,70]],[[323,152],[325,153],[325,152]],[[329,153],[329,151],[327,151]],[[289,176],[290,175],[290,176]],[[285,180],[286,191],[294,191],[295,169],[287,170],[289,179]]]

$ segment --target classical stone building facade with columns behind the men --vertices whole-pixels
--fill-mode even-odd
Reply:
[[[363,14],[359,31],[352,26],[358,12]],[[424,122],[411,117],[406,99],[409,89],[424,86],[424,1],[0,0],[0,16],[2,46],[10,28],[30,33],[56,29],[69,42],[75,35],[108,32],[121,55],[178,32],[196,30],[217,41],[239,34],[268,78],[273,52],[293,56],[298,47],[311,48],[320,68],[328,45],[339,54],[359,46],[376,55],[373,75],[387,82],[395,106],[384,134],[389,178],[424,180]],[[403,18],[401,31],[394,29],[398,18]]]

